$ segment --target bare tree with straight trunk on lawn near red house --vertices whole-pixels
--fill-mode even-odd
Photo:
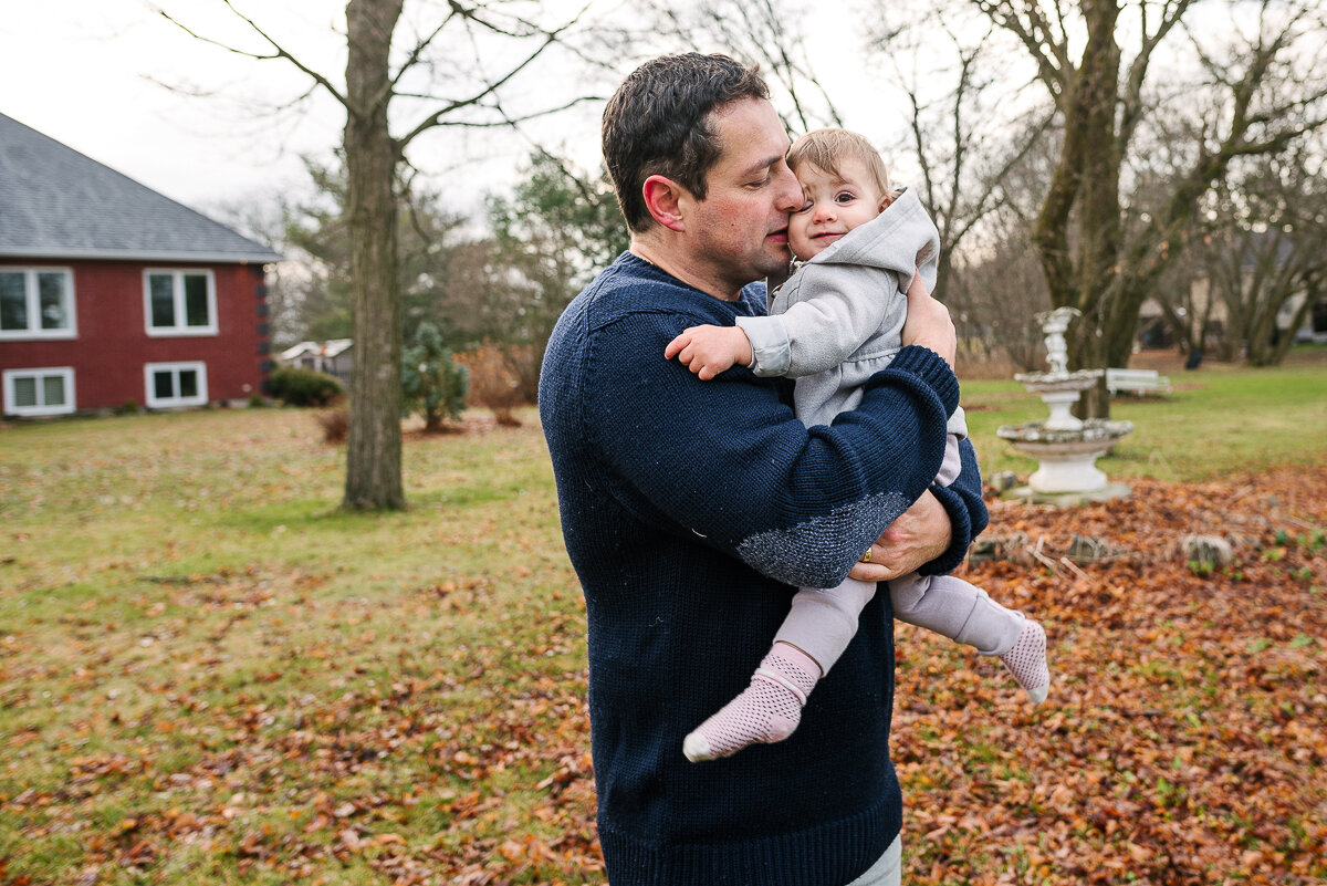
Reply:
[[[502,90],[559,42],[577,19],[549,28],[522,15],[537,13],[531,4],[449,0],[430,5],[421,0],[417,15],[407,20],[405,0],[349,0],[342,84],[307,64],[232,0],[219,1],[244,23],[259,48],[223,44],[162,15],[228,52],[295,66],[308,78],[309,93],[321,90],[345,110],[341,149],[356,348],[342,507],[403,508],[398,190],[406,151],[438,126],[510,126],[556,110],[508,114]],[[492,52],[486,44],[495,38],[508,44],[504,52]]]

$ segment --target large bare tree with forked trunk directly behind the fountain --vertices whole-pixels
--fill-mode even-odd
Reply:
[[[1323,125],[1322,5],[1221,0],[1198,11],[1194,0],[967,3],[1023,46],[1064,127],[1035,243],[1052,302],[1083,312],[1072,330],[1071,363],[1125,365],[1139,309],[1178,255],[1202,195],[1235,158],[1281,153]],[[1180,37],[1204,74],[1198,82],[1178,82]],[[1196,94],[1213,98],[1201,139],[1189,146],[1186,170],[1157,200],[1158,211],[1127,239],[1121,174],[1140,125],[1162,107],[1192,107]],[[1104,385],[1084,401],[1087,414],[1109,411]]]

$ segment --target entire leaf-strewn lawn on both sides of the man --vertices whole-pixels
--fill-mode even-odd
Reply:
[[[1047,623],[1051,702],[900,627],[906,882],[1327,878],[1327,369],[1173,381],[1117,402],[1131,499],[993,503],[1027,544],[969,576]],[[965,403],[983,471],[1026,475],[994,428],[1040,402]],[[382,516],[337,511],[307,411],[0,428],[0,885],[604,882],[583,603],[522,416],[411,436]]]

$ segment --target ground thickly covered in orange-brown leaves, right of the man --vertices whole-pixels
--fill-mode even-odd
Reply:
[[[1046,704],[900,627],[906,882],[1327,879],[1327,470],[1132,485],[991,505],[991,535],[1026,544],[969,577],[1046,625]],[[1233,562],[1189,562],[1190,533]]]

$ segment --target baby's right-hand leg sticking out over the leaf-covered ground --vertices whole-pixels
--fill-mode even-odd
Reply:
[[[1046,700],[1051,672],[1046,631],[1001,606],[981,588],[953,576],[904,576],[889,582],[894,618],[998,655],[1034,703]]]

